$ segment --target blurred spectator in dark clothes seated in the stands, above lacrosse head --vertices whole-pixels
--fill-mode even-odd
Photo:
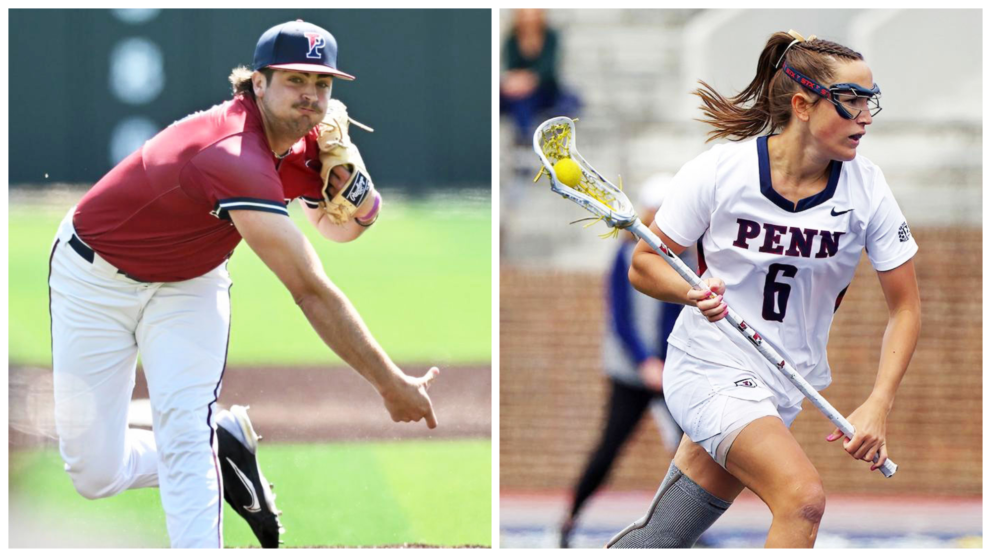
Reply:
[[[554,111],[556,116],[574,117],[579,108],[578,97],[565,92],[558,80],[559,46],[543,10],[513,12],[512,31],[502,48],[499,113],[512,117],[518,143],[529,144],[538,114]]]

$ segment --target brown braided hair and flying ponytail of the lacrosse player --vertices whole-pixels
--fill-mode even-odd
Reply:
[[[740,141],[758,136],[764,130],[780,131],[788,123],[792,117],[792,95],[801,85],[784,75],[781,64],[775,67],[783,54],[788,65],[824,85],[832,79],[837,58],[863,59],[860,53],[823,39],[796,43],[789,49],[794,40],[788,33],[772,35],[757,60],[753,81],[735,96],[723,97],[712,85],[699,81],[702,86],[693,94],[702,99],[700,108],[706,118],[698,120],[716,128],[709,132],[707,142],[720,138]],[[814,102],[819,102],[820,97],[815,98]]]

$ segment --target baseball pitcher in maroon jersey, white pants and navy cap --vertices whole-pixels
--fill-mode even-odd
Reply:
[[[382,394],[395,421],[436,427],[427,388],[405,375],[324,274],[288,218],[299,199],[321,235],[349,242],[382,209],[330,98],[337,43],[301,20],[265,32],[234,96],[192,114],[112,168],[59,226],[50,259],[55,422],[65,471],[87,499],[159,487],[173,547],[223,547],[223,501],[277,547],[279,511],[243,406],[216,407],[231,279],[243,238],[313,329]],[[356,124],[357,125],[357,124]],[[154,431],[128,428],[142,355]]]

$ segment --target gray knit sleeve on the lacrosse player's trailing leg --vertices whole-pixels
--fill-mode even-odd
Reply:
[[[614,535],[606,547],[692,547],[730,502],[702,489],[672,462],[647,514]]]

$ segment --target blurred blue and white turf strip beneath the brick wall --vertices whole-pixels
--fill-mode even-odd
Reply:
[[[572,535],[572,547],[603,547],[639,519],[652,493],[604,492],[589,501]],[[499,499],[499,547],[557,547],[568,507],[565,493],[506,494]],[[698,547],[763,547],[771,513],[745,492],[700,540]],[[817,548],[981,547],[980,498],[836,496],[826,499]]]

